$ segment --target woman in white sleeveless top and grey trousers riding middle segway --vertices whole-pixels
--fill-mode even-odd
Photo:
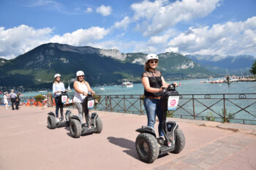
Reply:
[[[89,117],[89,110],[85,110],[86,108],[83,108],[83,99],[88,96],[88,93],[91,92],[94,94],[95,92],[91,90],[91,86],[89,85],[89,82],[86,82],[85,75],[83,71],[78,71],[76,73],[77,81],[74,82],[74,89],[75,89],[75,106],[78,108],[78,116],[80,118],[80,123],[83,123],[83,112],[85,113],[86,117],[86,123],[89,124],[89,127],[91,127],[90,123],[90,117]]]

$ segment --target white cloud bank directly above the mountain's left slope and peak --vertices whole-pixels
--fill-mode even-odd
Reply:
[[[78,29],[63,36],[53,36],[53,28],[35,29],[26,25],[9,29],[0,27],[0,57],[15,58],[48,42],[75,46],[89,45],[103,39],[109,33],[110,30],[105,28],[91,27]]]

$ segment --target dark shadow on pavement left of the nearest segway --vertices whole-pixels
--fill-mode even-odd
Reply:
[[[118,145],[119,147],[124,147],[128,149],[128,150],[123,150],[123,152],[126,152],[128,155],[139,160],[136,152],[136,148],[135,148],[135,142],[128,139],[124,139],[124,138],[116,138],[113,136],[108,137],[108,141],[112,144]]]

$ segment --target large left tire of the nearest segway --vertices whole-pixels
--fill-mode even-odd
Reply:
[[[153,163],[159,155],[157,139],[151,134],[139,134],[136,138],[135,147],[141,161]]]

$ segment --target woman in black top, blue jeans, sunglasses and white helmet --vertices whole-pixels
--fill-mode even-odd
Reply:
[[[162,96],[163,88],[169,85],[165,82],[161,72],[157,70],[159,58],[156,54],[146,55],[146,62],[144,65],[145,72],[141,77],[141,82],[144,87],[144,107],[148,117],[148,126],[154,128],[156,123],[156,116],[159,120],[162,119],[162,107],[160,106],[160,98]],[[176,85],[177,83],[174,82]],[[159,137],[164,138],[162,131],[162,124],[158,125]]]

